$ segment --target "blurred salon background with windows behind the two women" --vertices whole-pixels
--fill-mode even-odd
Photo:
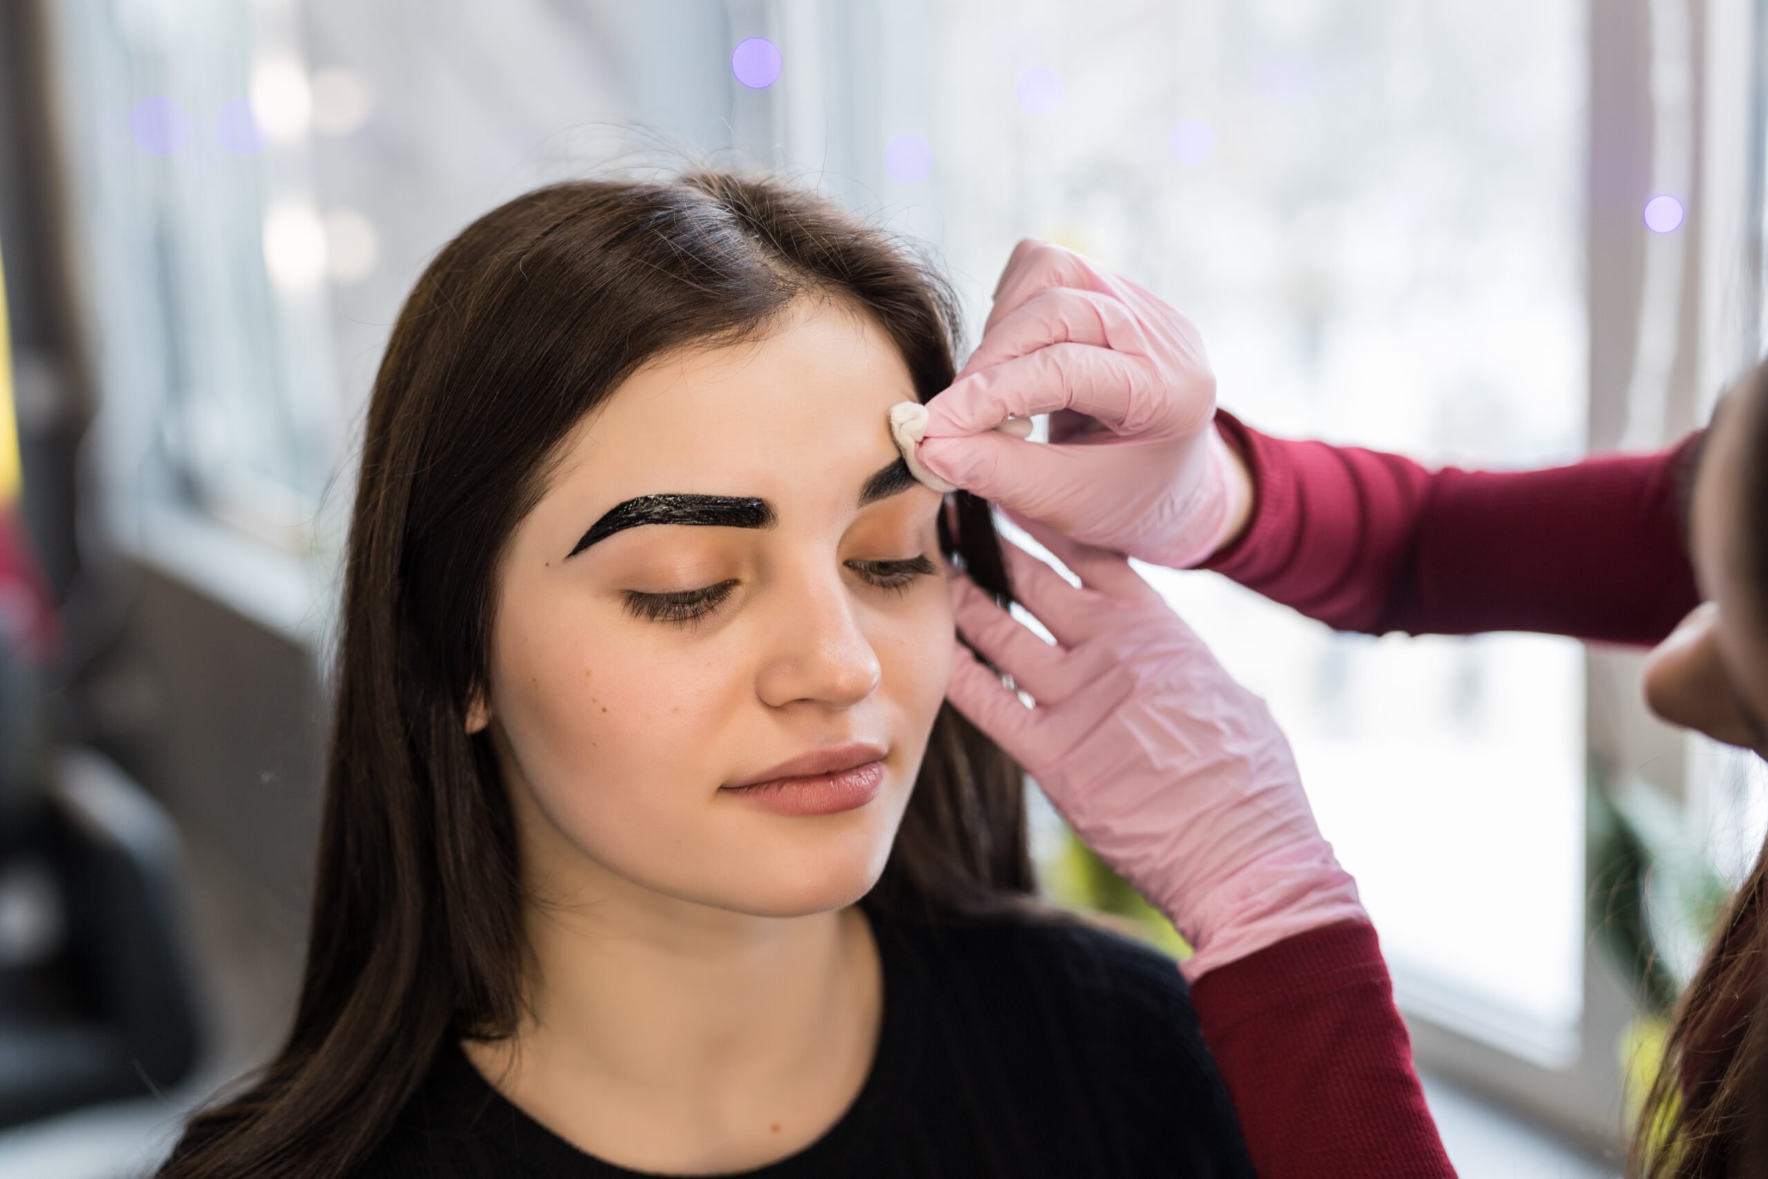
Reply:
[[[926,242],[971,343],[1036,233],[1190,315],[1254,426],[1543,465],[1680,438],[1759,354],[1764,34],[1764,0],[0,5],[0,1175],[152,1168],[286,1025],[364,398],[477,214],[767,164]],[[1146,574],[1289,730],[1462,1174],[1614,1174],[1759,764],[1651,721],[1634,652]],[[1172,944],[1047,808],[1036,845]]]

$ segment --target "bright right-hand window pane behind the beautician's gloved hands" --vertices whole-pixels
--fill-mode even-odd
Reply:
[[[884,27],[880,138],[926,163],[886,150],[882,203],[976,322],[1036,233],[1190,315],[1254,426],[1427,461],[1581,453],[1581,5],[965,4]],[[1333,635],[1213,574],[1147,576],[1271,702],[1402,1004],[1575,1052],[1581,647]]]

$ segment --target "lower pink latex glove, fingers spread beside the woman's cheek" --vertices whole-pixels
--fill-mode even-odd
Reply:
[[[958,631],[1036,705],[962,645],[946,695],[1197,947],[1186,977],[1367,921],[1264,702],[1123,557],[1022,523],[1082,582],[1002,546],[1015,596],[1057,645],[956,573],[951,601]]]

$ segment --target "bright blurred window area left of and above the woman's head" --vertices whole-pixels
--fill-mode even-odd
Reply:
[[[318,635],[412,281],[536,184],[766,145],[718,0],[50,5],[111,534]]]

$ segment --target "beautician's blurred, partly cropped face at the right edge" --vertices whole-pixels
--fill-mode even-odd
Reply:
[[[1718,407],[1701,454],[1690,551],[1706,603],[1646,663],[1646,700],[1667,721],[1768,755],[1768,619],[1749,564],[1745,472],[1756,380]]]

